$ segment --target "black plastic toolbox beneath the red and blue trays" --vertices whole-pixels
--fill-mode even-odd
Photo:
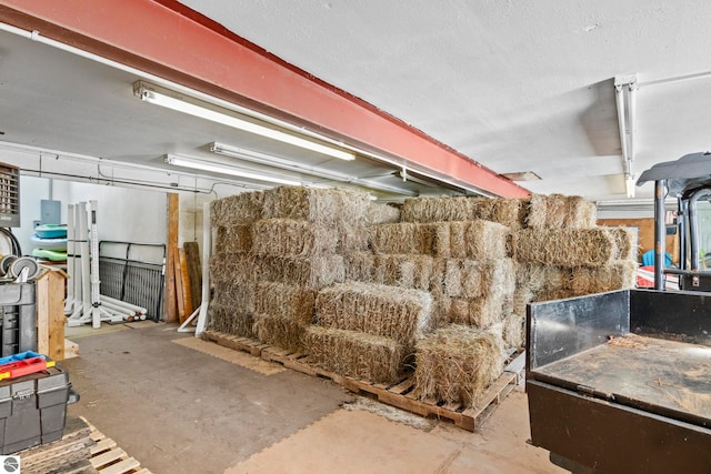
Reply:
[[[67,404],[77,400],[67,372],[59,365],[0,381],[0,453],[61,438]]]

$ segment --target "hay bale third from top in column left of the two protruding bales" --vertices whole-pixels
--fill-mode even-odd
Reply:
[[[271,256],[254,259],[254,281],[288,283],[319,290],[346,279],[341,255]]]

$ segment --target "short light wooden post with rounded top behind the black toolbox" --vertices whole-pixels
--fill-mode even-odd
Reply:
[[[37,352],[64,360],[64,285],[67,274],[47,271],[37,280]]]

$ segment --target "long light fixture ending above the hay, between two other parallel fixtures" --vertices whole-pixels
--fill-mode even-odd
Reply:
[[[320,168],[309,167],[307,164],[297,163],[294,161],[284,160],[283,158],[273,157],[267,153],[260,153],[253,150],[246,150],[239,147],[232,147],[229,144],[217,142],[210,143],[209,147],[210,151],[213,153],[218,153],[223,157],[236,158],[238,160],[251,161],[252,163],[258,163],[266,167],[278,168],[280,170],[303,173],[310,177],[322,178],[329,181],[350,183],[362,188],[387,191],[395,194],[403,194],[408,196],[419,195],[419,193],[415,191],[403,190],[402,188],[397,188],[377,181],[364,180],[362,178],[350,177],[348,174],[338,173],[336,171],[327,171]]]

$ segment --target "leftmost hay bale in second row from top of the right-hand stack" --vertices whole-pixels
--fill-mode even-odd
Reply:
[[[449,256],[448,223],[380,224],[370,229],[370,246],[375,253]]]

